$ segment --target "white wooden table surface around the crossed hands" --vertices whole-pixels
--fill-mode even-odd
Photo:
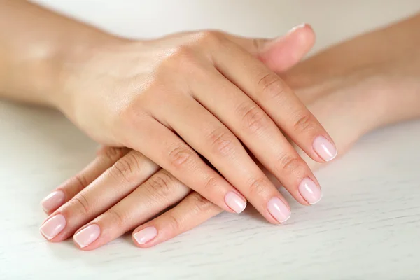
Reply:
[[[134,37],[202,28],[275,36],[305,21],[317,50],[420,10],[418,0],[42,2]],[[0,279],[420,279],[419,144],[420,121],[367,135],[317,173],[322,202],[292,203],[285,225],[221,214],[155,248],[122,237],[83,252],[41,237],[38,203],[97,145],[55,111],[0,102]]]

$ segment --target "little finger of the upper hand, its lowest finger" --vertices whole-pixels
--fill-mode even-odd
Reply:
[[[174,97],[163,104],[159,100],[156,100],[156,102],[158,103],[151,104],[151,108],[155,108],[154,113],[161,116],[162,111],[165,111],[163,108],[166,108],[169,118],[173,119],[179,118],[179,116],[176,116],[177,114],[173,114],[174,111],[170,110],[173,110],[174,107],[184,106],[182,102],[176,103],[179,100],[175,100]],[[165,104],[169,103],[181,105],[165,106]],[[162,111],[158,111],[158,109],[162,109]],[[190,115],[188,118],[191,118],[191,116],[194,115]],[[156,162],[163,169],[173,174],[176,179],[179,179],[189,188],[200,190],[208,200],[218,204],[219,207],[226,211],[238,213],[246,207],[244,197],[220,174],[209,167],[200,158],[200,155],[181,140],[179,136],[165,127],[165,125],[162,125],[162,123],[159,123],[158,120],[140,122],[137,121],[137,123],[125,129],[126,132],[132,133],[130,134],[130,139],[135,140],[127,143],[127,146],[134,148],[134,150],[148,147],[144,149],[144,153],[153,162]],[[173,124],[171,123],[171,125]],[[171,125],[168,126],[171,127]],[[138,127],[142,127],[142,132],[139,132]],[[191,133],[196,134],[196,132]],[[184,136],[182,135],[182,137]],[[161,139],[165,140],[162,141]],[[226,195],[228,195],[228,199],[225,200]],[[231,201],[232,203],[229,203]]]

